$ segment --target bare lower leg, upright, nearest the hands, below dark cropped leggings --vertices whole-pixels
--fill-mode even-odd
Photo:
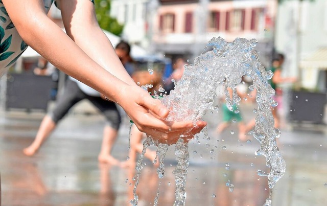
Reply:
[[[107,163],[112,165],[118,165],[119,161],[111,155],[111,149],[114,142],[116,141],[118,131],[111,128],[110,126],[105,126],[103,129],[103,140],[101,151],[98,156],[100,163]]]

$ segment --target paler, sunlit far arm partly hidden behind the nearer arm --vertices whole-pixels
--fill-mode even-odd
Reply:
[[[94,61],[128,84],[135,84],[116,55],[108,37],[98,25],[94,6],[89,1],[61,1],[66,33]]]

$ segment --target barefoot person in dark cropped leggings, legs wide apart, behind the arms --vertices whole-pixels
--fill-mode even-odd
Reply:
[[[130,74],[133,74],[134,68],[132,58],[130,57],[130,45],[125,41],[121,41],[116,45],[115,51],[123,65],[126,65],[126,70]],[[107,101],[98,91],[72,77],[68,77],[66,80],[63,94],[58,98],[53,111],[43,118],[33,143],[23,150],[24,154],[28,156],[34,155],[56,128],[58,122],[76,103],[84,99],[89,100],[96,106],[107,120],[107,124],[103,130],[101,151],[98,156],[99,162],[118,165],[119,161],[111,155],[111,149],[117,138],[118,129],[121,124],[121,116],[116,104],[112,101]]]

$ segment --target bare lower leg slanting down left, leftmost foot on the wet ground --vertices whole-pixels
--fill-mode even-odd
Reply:
[[[41,122],[33,143],[23,150],[24,154],[27,156],[33,156],[55,128],[56,123],[50,116],[46,115]]]

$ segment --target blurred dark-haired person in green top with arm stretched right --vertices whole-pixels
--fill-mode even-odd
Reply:
[[[294,83],[296,82],[295,77],[283,77],[282,76],[282,68],[285,60],[285,56],[281,53],[277,55],[277,58],[274,58],[272,61],[272,66],[270,67],[270,71],[274,74],[273,77],[269,80],[271,87],[276,91],[273,99],[278,103],[277,106],[272,107],[272,115],[275,121],[275,128],[279,128],[280,126],[280,117],[279,110],[283,107],[283,91],[280,87],[282,83]]]

